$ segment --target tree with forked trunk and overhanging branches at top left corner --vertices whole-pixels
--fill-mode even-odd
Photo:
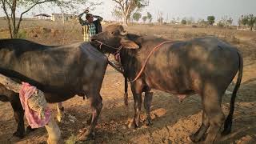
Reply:
[[[18,30],[21,26],[23,15],[33,9],[35,6],[42,4],[52,4],[55,6],[63,6],[73,8],[84,3],[82,0],[0,0],[0,7],[6,14],[6,22],[8,24],[10,38],[18,38]],[[18,10],[24,10],[18,15]]]

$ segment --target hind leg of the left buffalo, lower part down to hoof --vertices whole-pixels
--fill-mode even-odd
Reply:
[[[102,110],[102,97],[100,94],[94,94],[94,95],[90,95],[89,96],[89,100],[90,100],[90,106],[91,106],[91,122],[90,122],[90,126],[89,129],[83,133],[79,140],[80,141],[85,141],[89,138],[94,138],[95,137],[95,126],[97,124],[98,121],[98,116]]]

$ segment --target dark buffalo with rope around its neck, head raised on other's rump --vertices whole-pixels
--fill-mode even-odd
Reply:
[[[113,42],[113,39],[118,42]],[[161,43],[163,44],[146,62],[150,52]],[[150,90],[156,89],[182,95],[180,98],[189,94],[201,96],[202,125],[190,136],[192,141],[202,140],[206,130],[209,130],[204,142],[214,142],[223,123],[222,134],[230,133],[234,99],[242,80],[243,69],[242,56],[234,46],[214,37],[173,42],[164,38],[138,36],[127,34],[118,25],[109,26],[105,32],[95,35],[93,45],[100,45],[103,53],[115,54],[116,58],[120,55],[124,75],[131,81],[134,96],[134,126],[138,126],[140,119],[142,92],[145,92],[146,123],[150,124]],[[145,62],[145,69],[134,81]],[[237,72],[238,80],[230,101],[230,113],[225,118],[221,107],[222,96]]]

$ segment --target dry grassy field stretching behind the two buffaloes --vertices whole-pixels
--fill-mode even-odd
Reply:
[[[8,38],[6,21],[0,20],[0,38]],[[104,26],[103,26],[104,27]],[[82,26],[78,22],[51,22],[45,20],[25,19],[22,22],[21,31],[26,33],[26,39],[48,45],[60,45],[82,41]],[[130,33],[155,35],[173,40],[184,40],[206,35],[214,35],[229,42],[256,42],[256,33],[251,31],[240,31],[221,29],[216,27],[192,26],[155,26],[136,25],[126,28]]]

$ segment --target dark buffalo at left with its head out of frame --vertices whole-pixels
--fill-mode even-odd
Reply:
[[[47,102],[63,102],[78,94],[90,100],[90,128],[82,139],[94,136],[102,110],[100,90],[108,64],[104,54],[90,43],[44,46],[22,39],[0,39],[0,73],[42,90]],[[18,94],[0,85],[0,100],[9,101],[14,109],[18,129],[24,136],[22,105]]]

